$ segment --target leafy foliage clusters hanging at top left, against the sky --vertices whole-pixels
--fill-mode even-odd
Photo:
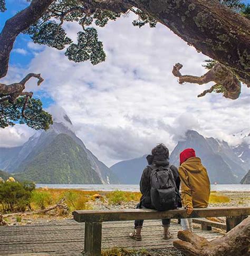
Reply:
[[[45,44],[62,50],[68,45],[65,55],[69,60],[82,62],[90,60],[92,64],[105,61],[103,44],[98,40],[98,33],[93,24],[104,27],[109,20],[116,20],[120,13],[90,8],[78,1],[55,1],[46,13],[25,33],[30,34],[35,43]],[[62,25],[64,21],[78,22],[83,31],[78,32],[78,43],[66,36]]]

